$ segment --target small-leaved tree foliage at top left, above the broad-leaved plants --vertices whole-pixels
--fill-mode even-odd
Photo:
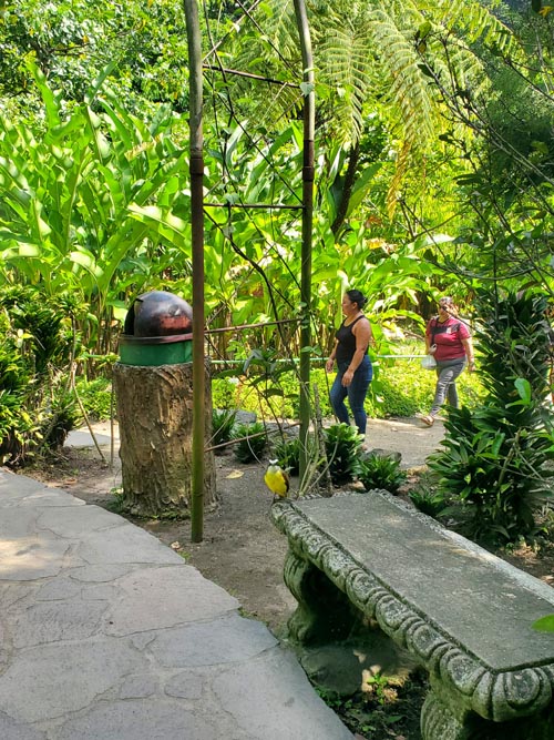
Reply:
[[[186,32],[178,0],[12,0],[3,9],[1,29],[4,104],[11,99],[22,111],[33,111],[29,59],[68,101],[81,102],[109,64],[110,83],[136,112],[152,109],[151,101],[175,107],[186,101]]]

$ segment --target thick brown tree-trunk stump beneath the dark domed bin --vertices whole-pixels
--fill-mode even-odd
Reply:
[[[212,385],[206,369],[206,446],[212,433]],[[138,516],[189,515],[193,365],[113,371],[120,423],[123,504]],[[206,453],[204,503],[217,500],[213,453]]]

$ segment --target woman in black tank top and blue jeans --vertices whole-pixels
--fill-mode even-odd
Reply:
[[[345,321],[335,335],[335,347],[326,363],[328,373],[337,362],[337,376],[330,391],[330,402],[339,422],[350,424],[345,399],[348,396],[350,410],[358,432],[366,435],[367,415],[363,402],[373,376],[373,368],[368,356],[368,346],[372,341],[371,326],[363,315],[362,307],[367,298],[360,291],[347,291],[342,297]]]

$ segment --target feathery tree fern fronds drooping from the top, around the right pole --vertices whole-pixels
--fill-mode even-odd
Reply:
[[[253,18],[236,38],[236,64],[284,81],[301,81],[293,0],[253,3]],[[345,146],[356,150],[378,112],[394,140],[397,168],[388,194],[389,213],[406,172],[443,132],[435,81],[447,94],[471,87],[486,92],[476,53],[483,44],[499,54],[515,48],[510,30],[476,0],[308,0],[318,85],[319,121]],[[252,23],[250,23],[252,21]],[[481,48],[478,48],[481,44]],[[229,98],[243,98],[248,116],[266,128],[296,115],[299,89],[265,85],[257,102],[244,79],[227,80]],[[456,132],[458,134],[459,132]],[[468,133],[468,135],[470,135]]]

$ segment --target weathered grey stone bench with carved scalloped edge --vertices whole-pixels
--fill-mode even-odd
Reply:
[[[554,589],[386,491],[274,504],[304,645],[363,616],[423,666],[424,740],[552,740]]]

